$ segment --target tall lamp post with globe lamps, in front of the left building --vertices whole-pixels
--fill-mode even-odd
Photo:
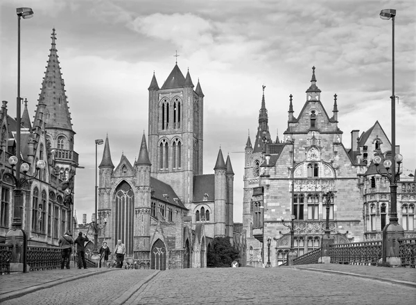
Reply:
[[[21,164],[21,155],[20,155],[20,125],[21,125],[21,97],[20,97],[20,19],[29,19],[33,17],[33,10],[31,8],[16,8],[17,14],[17,99],[16,99],[16,156],[9,158],[10,166],[12,166],[12,171],[14,166],[16,166],[16,174],[12,175],[13,180],[15,180],[15,190],[14,190],[14,209],[13,209],[13,222],[12,229],[6,234],[6,243],[10,242],[13,244],[12,249],[12,263],[10,268],[12,271],[23,271],[27,272],[26,268],[26,244],[27,236],[24,229],[21,228],[21,217],[23,211],[23,192],[21,187],[27,182],[29,178],[21,178],[20,171],[25,175],[29,170],[29,165],[24,163]],[[43,163],[42,163],[43,162]],[[43,166],[44,161],[38,162],[39,168]],[[35,175],[37,172],[35,173]],[[33,176],[35,177],[35,176]],[[21,264],[23,264],[21,266]]]

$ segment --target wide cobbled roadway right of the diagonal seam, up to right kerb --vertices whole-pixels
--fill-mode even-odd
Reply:
[[[373,279],[295,268],[208,268],[159,272],[125,304],[385,305],[415,299],[415,288]]]

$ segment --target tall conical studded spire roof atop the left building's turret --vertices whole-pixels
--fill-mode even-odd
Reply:
[[[58,61],[58,53],[56,49],[55,28],[52,29],[52,45],[49,50],[49,60],[46,66],[45,76],[42,82],[39,102],[46,105],[46,113],[44,114],[44,123],[46,129],[60,128],[64,130],[72,130],[71,113],[69,112],[67,96],[65,96],[64,80],[60,72],[60,62]],[[35,121],[40,119],[39,110],[36,110]]]

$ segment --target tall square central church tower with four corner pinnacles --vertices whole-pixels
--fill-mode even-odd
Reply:
[[[172,186],[187,209],[193,200],[193,175],[202,174],[204,94],[189,71],[177,64],[161,88],[155,74],[149,91],[149,158],[152,177]]]

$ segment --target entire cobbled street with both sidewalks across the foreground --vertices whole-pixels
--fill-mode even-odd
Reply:
[[[32,286],[40,283],[51,285],[51,281],[45,279],[47,272],[51,272],[51,280],[57,283],[33,293],[22,293],[2,304],[347,305],[414,304],[416,299],[416,270],[406,268],[319,264],[303,265],[300,268],[196,268],[163,272],[94,272],[88,269],[85,270],[90,272],[87,277],[85,273],[80,273],[80,278],[64,282],[62,279],[65,279],[65,271],[67,270],[49,270],[1,276],[1,286],[3,283],[5,286],[18,285],[20,279],[21,286],[27,288],[31,286],[31,281],[36,281],[37,276],[41,277],[39,283],[34,282]],[[355,276],[351,276],[353,273]],[[62,275],[60,284],[59,274]],[[410,286],[377,280],[382,277],[402,281]],[[5,296],[5,290],[1,290],[1,297]]]

